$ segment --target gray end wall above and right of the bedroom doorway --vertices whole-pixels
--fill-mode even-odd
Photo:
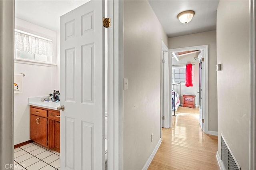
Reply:
[[[168,39],[168,48],[209,45],[209,106],[208,130],[218,131],[217,113],[217,73],[216,73],[216,30],[190,34]]]

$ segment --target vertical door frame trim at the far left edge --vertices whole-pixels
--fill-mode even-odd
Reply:
[[[0,169],[9,169],[14,164],[14,1],[0,1],[0,11]]]

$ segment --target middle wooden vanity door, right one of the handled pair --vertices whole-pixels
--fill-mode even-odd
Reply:
[[[47,118],[38,117],[38,143],[47,146]]]

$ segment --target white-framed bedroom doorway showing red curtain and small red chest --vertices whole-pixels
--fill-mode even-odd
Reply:
[[[180,106],[198,107],[200,128],[208,134],[208,45],[170,49],[168,53],[169,93],[175,107],[170,107],[170,125],[180,113]]]

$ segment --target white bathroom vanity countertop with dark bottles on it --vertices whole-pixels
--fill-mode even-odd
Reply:
[[[55,102],[41,101],[42,98],[47,98],[47,97],[44,97],[44,96],[42,96],[42,97],[28,97],[28,105],[43,107],[43,108],[53,109],[53,110],[57,110],[57,107],[60,106],[60,102],[55,103]]]

